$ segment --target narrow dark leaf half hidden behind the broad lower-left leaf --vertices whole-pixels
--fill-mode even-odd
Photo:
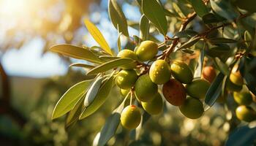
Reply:
[[[82,112],[83,100],[84,96],[77,101],[75,107],[67,114],[65,128],[69,128],[69,126],[78,121],[79,115]]]

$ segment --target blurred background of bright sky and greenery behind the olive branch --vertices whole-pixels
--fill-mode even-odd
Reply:
[[[121,0],[128,23],[138,23],[136,1]],[[51,121],[53,107],[67,89],[85,79],[85,70],[69,68],[72,62],[48,52],[52,45],[97,45],[83,20],[89,18],[112,48],[118,33],[108,17],[107,0],[0,0],[0,145],[91,145],[105,118],[121,99],[118,89],[100,111],[69,130],[64,117]],[[176,23],[173,21],[173,23]],[[130,36],[138,35],[129,26]],[[170,26],[172,27],[172,26]],[[160,41],[162,37],[155,36]],[[121,37],[122,47],[129,40]],[[199,120],[184,118],[178,108],[148,120],[137,142],[130,145],[223,145],[232,114],[216,104]],[[118,128],[108,145],[124,145],[127,132]]]

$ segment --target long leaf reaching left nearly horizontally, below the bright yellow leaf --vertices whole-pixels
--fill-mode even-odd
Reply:
[[[71,58],[83,59],[92,63],[100,64],[103,62],[97,57],[97,55],[83,47],[63,44],[54,45],[53,47],[50,47],[50,50],[56,53],[61,53],[62,55],[67,55]]]

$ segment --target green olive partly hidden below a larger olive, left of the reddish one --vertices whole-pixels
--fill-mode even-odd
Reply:
[[[141,102],[141,105],[150,115],[157,115],[162,112],[162,96],[160,93],[157,93],[152,101]]]

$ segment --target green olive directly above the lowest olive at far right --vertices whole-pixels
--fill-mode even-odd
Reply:
[[[246,91],[234,92],[233,97],[236,103],[240,105],[249,105],[252,103],[252,95]]]

